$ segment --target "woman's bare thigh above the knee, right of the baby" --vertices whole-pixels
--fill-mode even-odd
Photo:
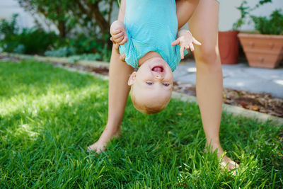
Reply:
[[[200,0],[188,23],[192,35],[202,42],[195,47],[195,54],[218,53],[219,2]]]

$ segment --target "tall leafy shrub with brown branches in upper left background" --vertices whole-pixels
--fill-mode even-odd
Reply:
[[[112,43],[108,40],[111,14],[118,6],[119,1],[114,0],[16,0],[30,11],[33,16],[38,14],[44,16],[47,21],[51,21],[59,30],[59,36],[66,38],[76,35],[76,32],[83,31],[88,36],[96,36],[100,44],[108,45],[110,49]]]

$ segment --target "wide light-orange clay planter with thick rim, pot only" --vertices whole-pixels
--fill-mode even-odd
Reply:
[[[250,67],[275,68],[283,57],[283,35],[238,34]]]

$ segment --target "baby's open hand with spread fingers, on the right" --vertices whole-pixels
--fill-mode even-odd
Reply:
[[[194,45],[202,45],[200,42],[198,42],[194,37],[192,37],[192,34],[190,33],[189,30],[180,30],[178,32],[178,39],[174,40],[171,45],[180,45],[180,55],[181,59],[184,58],[184,51],[186,50],[191,50],[194,51]]]

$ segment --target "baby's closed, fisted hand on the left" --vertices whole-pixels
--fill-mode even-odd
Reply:
[[[124,45],[128,40],[125,25],[121,21],[114,21],[111,24],[110,34],[112,36],[110,40],[114,44]]]

